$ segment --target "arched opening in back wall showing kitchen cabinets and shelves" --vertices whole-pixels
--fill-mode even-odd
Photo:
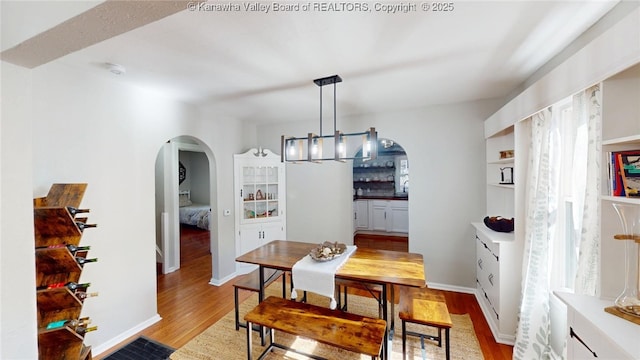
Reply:
[[[408,251],[409,160],[404,148],[378,139],[376,159],[354,160],[353,189],[354,244]]]

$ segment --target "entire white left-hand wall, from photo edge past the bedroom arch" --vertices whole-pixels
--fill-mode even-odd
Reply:
[[[213,109],[200,112],[109,74],[55,62],[35,70],[2,65],[0,357],[37,357],[32,199],[54,182],[89,184],[82,206],[91,208],[90,222],[98,228],[86,231],[82,244],[91,245],[99,261],[85,267],[81,280],[100,293],[83,308],[99,327],[86,338],[97,354],[159,319],[154,193],[162,145],[181,135],[197,137],[215,154],[214,173],[232,174],[231,155],[244,148],[242,127],[217,118]],[[233,209],[233,178],[212,182],[223,194],[217,206]],[[233,217],[215,221],[212,250],[223,260],[215,262],[212,282],[235,270]]]

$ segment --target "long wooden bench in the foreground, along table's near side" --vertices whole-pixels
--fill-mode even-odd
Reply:
[[[307,303],[270,296],[244,317],[247,321],[247,358],[251,360],[251,324],[271,329],[270,341],[260,355],[263,359],[273,348],[294,351],[312,359],[322,357],[306,354],[275,342],[274,330],[315,340],[322,344],[359,354],[380,355],[386,335],[386,322],[381,319],[331,310]]]

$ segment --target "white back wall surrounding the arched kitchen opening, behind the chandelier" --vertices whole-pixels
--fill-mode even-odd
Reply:
[[[484,217],[483,119],[497,101],[435,106],[338,121],[344,132],[376,127],[409,158],[409,248],[423,254],[427,282],[475,287],[472,221]],[[258,127],[258,143],[280,153],[280,135],[301,136],[317,123]],[[350,242],[351,163],[287,164],[287,238]]]

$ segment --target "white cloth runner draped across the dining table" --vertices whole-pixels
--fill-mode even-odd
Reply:
[[[330,308],[335,309],[335,275],[356,251],[355,245],[347,245],[344,254],[331,261],[316,261],[310,255],[298,260],[291,268],[293,286],[291,298],[298,297],[296,291],[310,291],[331,299]]]

